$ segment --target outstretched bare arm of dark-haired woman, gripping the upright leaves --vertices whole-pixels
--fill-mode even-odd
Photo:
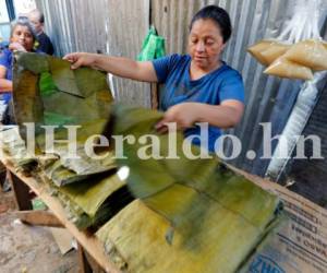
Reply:
[[[134,61],[122,57],[76,52],[63,57],[72,62],[72,69],[93,67],[118,76],[142,82],[157,82],[157,74],[150,61]]]

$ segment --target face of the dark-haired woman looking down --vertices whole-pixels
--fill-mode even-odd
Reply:
[[[194,64],[203,70],[215,69],[225,48],[220,28],[210,19],[193,23],[189,36],[189,54]]]

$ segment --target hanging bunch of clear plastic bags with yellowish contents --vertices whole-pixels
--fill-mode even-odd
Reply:
[[[320,4],[320,0],[296,1],[294,15],[277,40],[262,40],[247,49],[262,64],[270,66],[264,73],[313,80],[313,71],[327,70],[327,43],[318,27]]]

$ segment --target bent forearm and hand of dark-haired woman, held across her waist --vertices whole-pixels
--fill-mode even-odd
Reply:
[[[238,124],[243,116],[244,105],[235,99],[223,100],[220,105],[183,103],[169,108],[157,130],[165,132],[167,122],[177,122],[179,129],[186,129],[196,122],[208,122],[222,129]]]

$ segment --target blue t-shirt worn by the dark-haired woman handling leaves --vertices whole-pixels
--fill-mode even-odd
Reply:
[[[222,62],[222,66],[198,80],[190,79],[191,57],[189,55],[171,55],[153,61],[159,83],[165,83],[160,96],[160,110],[186,102],[219,105],[226,99],[244,102],[244,85],[241,74]],[[199,135],[199,127],[186,129],[185,136]],[[221,135],[220,129],[209,126],[209,151],[215,151],[215,142]],[[198,138],[193,144],[199,145]]]

